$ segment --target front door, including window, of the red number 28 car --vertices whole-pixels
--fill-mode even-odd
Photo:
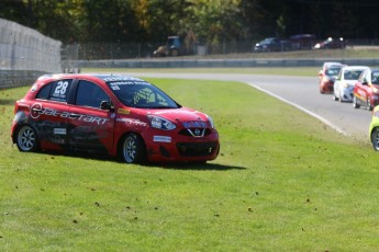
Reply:
[[[113,147],[114,112],[101,108],[110,96],[97,83],[78,80],[69,106],[68,147],[74,150],[109,152]]]

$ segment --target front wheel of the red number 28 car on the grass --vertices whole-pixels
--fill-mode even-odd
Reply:
[[[142,137],[134,133],[127,134],[122,140],[121,154],[126,163],[146,161],[146,148]]]

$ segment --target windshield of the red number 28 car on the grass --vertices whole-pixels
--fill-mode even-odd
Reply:
[[[108,81],[107,84],[125,105],[140,108],[178,108],[172,99],[157,87],[138,79]]]

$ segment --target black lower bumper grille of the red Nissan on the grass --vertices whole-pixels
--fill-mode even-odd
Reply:
[[[177,149],[183,157],[211,156],[218,148],[216,142],[178,142]]]

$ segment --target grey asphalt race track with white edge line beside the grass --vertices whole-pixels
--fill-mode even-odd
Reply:
[[[323,122],[339,134],[368,141],[371,112],[354,108],[352,103],[333,101],[321,94],[317,77],[288,77],[238,73],[153,73],[129,72],[136,77],[239,81],[272,95]]]

